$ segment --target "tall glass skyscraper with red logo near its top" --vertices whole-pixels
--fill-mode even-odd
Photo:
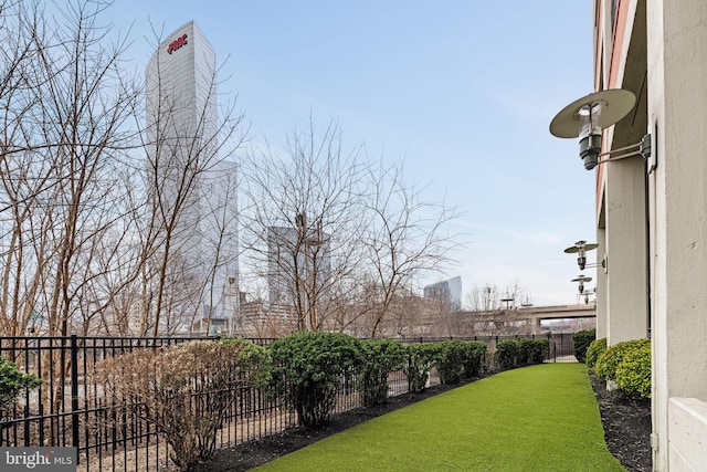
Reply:
[[[236,169],[215,150],[215,52],[193,21],[152,54],[145,103],[148,190],[158,244],[169,247],[188,285],[187,304],[203,307],[204,316],[235,316]]]

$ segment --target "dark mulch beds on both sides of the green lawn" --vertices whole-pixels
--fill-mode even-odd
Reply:
[[[650,472],[652,461],[650,400],[632,399],[619,391],[606,391],[604,382],[593,378],[591,380],[599,403],[609,450],[629,471]],[[363,421],[458,386],[440,385],[428,388],[423,392],[405,394],[390,398],[388,403],[376,408],[358,408],[337,415],[323,429],[294,428],[267,439],[223,449],[218,451],[211,460],[190,469],[190,471],[247,471]]]

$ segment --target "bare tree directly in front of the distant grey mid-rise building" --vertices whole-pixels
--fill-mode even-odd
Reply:
[[[247,161],[244,248],[268,286],[271,304],[288,304],[299,329],[320,329],[361,260],[360,146],[344,150],[336,123],[314,123],[287,139],[286,156],[270,149]]]

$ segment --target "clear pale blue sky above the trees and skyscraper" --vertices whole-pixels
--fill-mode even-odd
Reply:
[[[163,35],[193,19],[255,141],[282,143],[312,112],[372,157],[404,159],[428,200],[461,208],[455,230],[471,241],[423,282],[461,275],[465,293],[517,283],[536,305],[577,302],[562,251],[595,239],[594,174],[548,126],[593,91],[590,1],[118,0],[104,18],[131,25],[138,71],[148,18]]]

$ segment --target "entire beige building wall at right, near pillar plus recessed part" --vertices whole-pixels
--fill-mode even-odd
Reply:
[[[654,469],[667,471],[671,398],[707,401],[707,2],[621,0],[615,28],[611,2],[595,4],[595,82],[639,96],[608,148],[651,133],[657,162],[647,178],[636,158],[599,172],[598,328],[610,344],[645,337],[651,313]]]

